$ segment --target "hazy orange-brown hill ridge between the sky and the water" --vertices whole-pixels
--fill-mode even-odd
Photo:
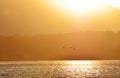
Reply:
[[[0,60],[120,59],[120,32],[0,36]]]

